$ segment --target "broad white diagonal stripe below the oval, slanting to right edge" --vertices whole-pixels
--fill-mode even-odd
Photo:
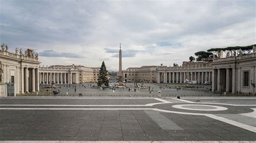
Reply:
[[[244,128],[245,130],[252,131],[252,132],[256,133],[256,127],[254,127],[254,126],[246,125],[246,124],[243,124],[243,123],[239,123],[238,121],[226,119],[226,118],[215,116],[215,115],[212,115],[212,114],[205,114],[205,116],[216,119],[216,120],[220,120],[220,121],[223,121],[227,124],[238,126],[238,127]]]

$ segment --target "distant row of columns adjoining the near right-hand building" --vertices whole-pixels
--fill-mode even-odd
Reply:
[[[212,82],[212,71],[158,71],[158,83],[184,83],[185,80],[197,83]]]

